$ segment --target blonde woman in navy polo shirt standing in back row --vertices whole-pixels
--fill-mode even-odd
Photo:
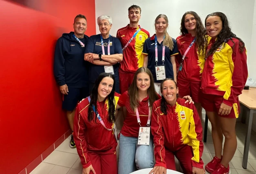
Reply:
[[[167,32],[168,17],[160,14],[154,21],[156,34],[146,39],[142,54],[144,54],[143,67],[148,67],[154,77],[154,87],[158,94],[160,83],[164,78],[177,78],[175,55],[179,54],[176,40]],[[157,71],[157,68],[159,71]]]

